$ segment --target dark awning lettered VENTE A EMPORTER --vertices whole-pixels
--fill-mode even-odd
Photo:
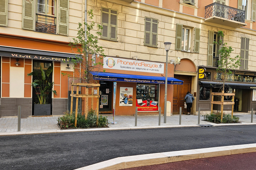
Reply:
[[[81,57],[81,55],[76,55],[73,53],[44,51],[9,46],[0,46],[0,56],[49,61],[69,61],[70,58],[76,59],[76,57]]]

